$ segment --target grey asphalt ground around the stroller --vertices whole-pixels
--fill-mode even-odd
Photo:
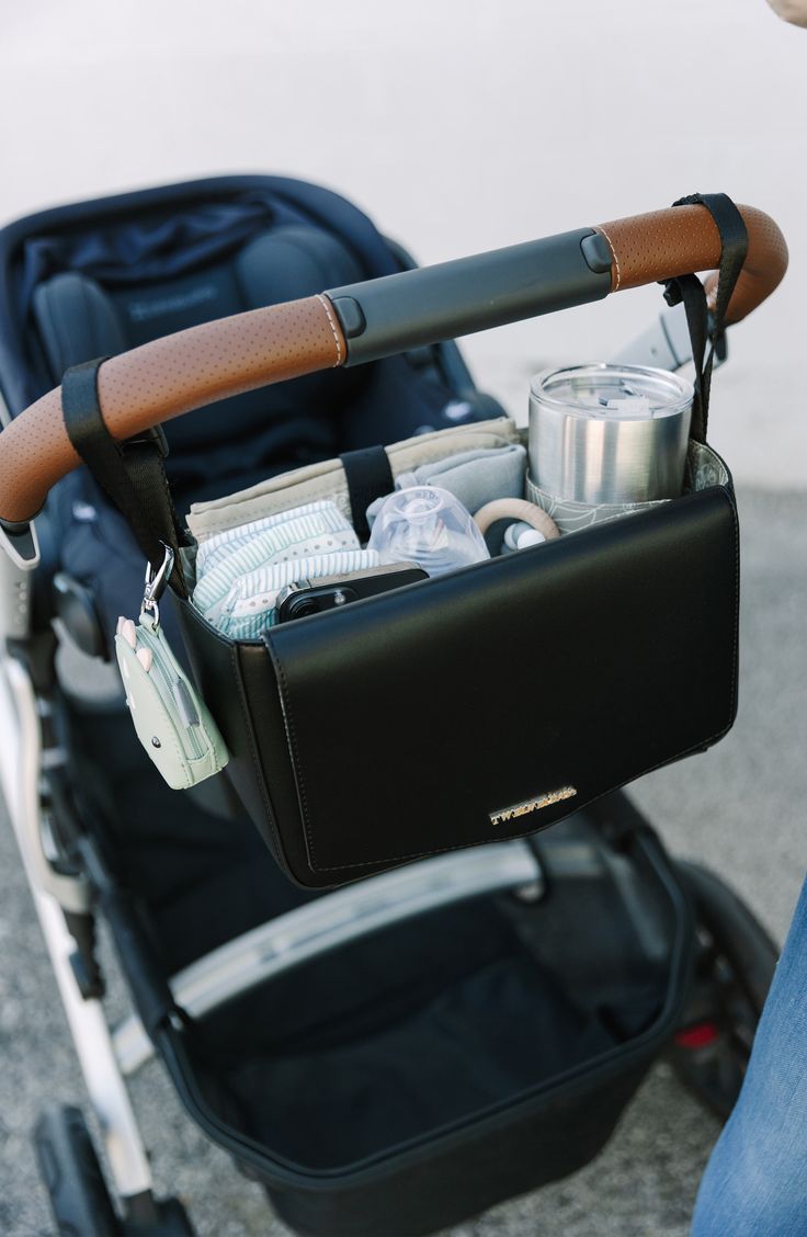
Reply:
[[[807,495],[745,490],[740,716],[712,752],[644,779],[635,794],[671,849],[719,870],[782,939],[807,867]],[[682,685],[683,687],[683,685]],[[52,1100],[84,1102],[33,908],[0,821],[0,1232],[51,1233],[28,1132]],[[113,993],[113,1003],[120,993]],[[188,1202],[202,1235],[287,1230],[186,1118],[158,1066],[134,1100],[158,1189]],[[452,1231],[452,1237],[683,1237],[717,1123],[661,1064],[592,1165]],[[395,1225],[391,1221],[390,1237]]]

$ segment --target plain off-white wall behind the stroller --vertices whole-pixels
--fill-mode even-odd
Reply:
[[[438,261],[725,189],[791,244],[733,334],[713,440],[807,485],[807,32],[765,0],[0,2],[0,218],[134,186],[277,171],[354,198]],[[608,357],[657,289],[477,336],[481,385]]]

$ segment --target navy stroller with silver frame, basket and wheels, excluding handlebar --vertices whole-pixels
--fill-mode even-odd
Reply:
[[[22,219],[0,233],[6,421],[72,365],[413,266],[344,199],[277,177]],[[621,359],[680,367],[682,323],[665,312]],[[186,511],[501,416],[454,343],[415,340],[171,422],[166,466]],[[537,836],[295,888],[225,776],[171,792],[135,742],[108,663],[142,555],[89,473],[52,489],[36,537],[4,528],[2,788],[105,1149],[104,1171],[77,1107],[41,1116],[59,1232],[193,1231],[181,1200],[153,1196],[126,1091],[153,1054],[285,1222],[322,1237],[433,1232],[573,1173],[661,1053],[730,1111],[776,949],[624,792]],[[111,1028],[99,917],[134,1004]]]

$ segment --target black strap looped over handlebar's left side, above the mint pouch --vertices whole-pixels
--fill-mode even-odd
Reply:
[[[171,501],[160,440],[141,438],[126,444],[109,433],[98,400],[98,371],[106,357],[74,365],[62,379],[62,416],[67,435],[95,481],[109,495],[131,528],[152,569],[162,565],[165,547],[175,553],[171,584],[187,596],[178,548],[184,538]]]

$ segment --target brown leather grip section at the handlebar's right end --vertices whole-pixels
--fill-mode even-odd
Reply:
[[[725,315],[740,322],[761,304],[787,270],[787,245],[774,220],[755,207],[738,207],[748,229],[748,255]],[[672,207],[631,219],[599,224],[611,251],[611,292],[657,283],[692,271],[710,271],[720,261],[720,234],[706,207]],[[717,275],[706,282],[710,307]]]

